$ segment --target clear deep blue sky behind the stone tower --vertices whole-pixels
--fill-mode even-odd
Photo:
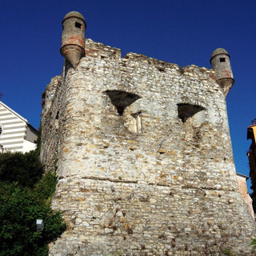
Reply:
[[[2,102],[38,128],[41,94],[61,74],[62,18],[77,10],[86,38],[179,66],[210,68],[210,54],[225,48],[235,83],[226,98],[237,171],[249,174],[246,129],[256,118],[256,1],[37,0],[2,1]]]

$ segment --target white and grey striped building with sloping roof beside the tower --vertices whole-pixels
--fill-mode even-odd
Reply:
[[[38,131],[0,101],[0,152],[34,150],[37,138]]]

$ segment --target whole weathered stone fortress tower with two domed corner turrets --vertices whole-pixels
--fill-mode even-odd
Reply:
[[[213,70],[181,68],[86,39],[78,12],[62,25],[41,157],[57,166],[52,206],[67,229],[50,255],[249,255],[256,228],[236,181],[226,50],[214,50]]]

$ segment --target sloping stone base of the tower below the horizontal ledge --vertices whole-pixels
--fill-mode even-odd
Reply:
[[[256,234],[238,191],[62,178],[56,192],[67,230],[49,255],[250,255]]]

